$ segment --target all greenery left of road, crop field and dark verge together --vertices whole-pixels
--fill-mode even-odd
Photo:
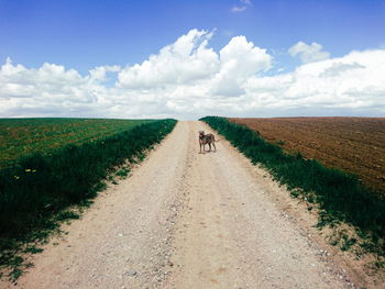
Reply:
[[[0,278],[16,279],[67,209],[89,203],[111,176],[127,176],[176,120],[0,120]],[[129,164],[128,164],[129,162]],[[32,246],[25,247],[25,244]]]

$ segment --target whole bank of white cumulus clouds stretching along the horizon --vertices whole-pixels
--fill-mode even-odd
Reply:
[[[191,30],[141,64],[99,66],[86,76],[8,58],[0,69],[0,118],[385,114],[385,49],[266,76],[277,68],[266,49],[235,36],[217,52],[209,47],[212,34]]]

